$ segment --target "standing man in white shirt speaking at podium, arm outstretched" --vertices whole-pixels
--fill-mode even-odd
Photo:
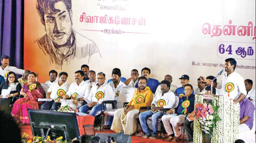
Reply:
[[[247,92],[244,86],[244,78],[238,74],[236,69],[236,60],[228,58],[225,60],[225,73],[222,79],[217,84],[213,82],[213,87],[221,89],[221,95],[227,95],[230,99],[233,99],[236,103],[244,99]],[[203,82],[207,82],[211,85],[211,81],[200,76]]]

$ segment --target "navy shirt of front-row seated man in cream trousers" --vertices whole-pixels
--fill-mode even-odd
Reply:
[[[180,98],[178,106],[176,108],[174,108],[177,115],[181,115],[181,114],[184,115],[184,112],[182,112],[184,108],[181,106],[181,103],[185,100],[187,100],[187,96],[183,96],[182,98]],[[194,94],[189,95],[188,100],[189,100],[190,104],[187,107],[187,113],[186,114],[191,113],[192,111],[194,111],[195,95]]]

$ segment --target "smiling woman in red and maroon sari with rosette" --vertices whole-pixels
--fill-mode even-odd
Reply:
[[[36,74],[28,73],[28,83],[25,83],[20,91],[20,95],[24,97],[18,99],[12,108],[12,116],[17,123],[29,124],[28,110],[39,109],[42,102],[38,102],[38,98],[45,98],[45,92],[42,85],[35,81]]]

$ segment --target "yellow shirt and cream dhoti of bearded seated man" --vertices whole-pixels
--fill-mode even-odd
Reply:
[[[136,98],[138,96],[143,96],[143,102],[136,102]],[[140,96],[140,97],[141,97]],[[133,94],[132,100],[128,103],[128,105],[134,105],[134,109],[129,111],[127,114],[124,111],[124,108],[117,109],[115,111],[113,123],[111,126],[111,130],[119,133],[124,131],[124,134],[132,134],[136,131],[137,120],[136,116],[139,115],[140,107],[148,107],[153,101],[153,94],[149,87],[146,87],[142,92],[137,88]]]

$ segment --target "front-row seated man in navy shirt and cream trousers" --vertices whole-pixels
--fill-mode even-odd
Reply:
[[[167,115],[164,115],[162,117],[162,121],[164,124],[165,131],[169,135],[167,139],[164,139],[165,141],[172,141],[177,142],[180,140],[180,131],[179,126],[182,124],[182,122],[185,121],[185,117],[188,113],[191,113],[194,111],[194,105],[195,105],[195,95],[193,94],[193,87],[190,84],[184,85],[185,95],[180,98],[179,104],[176,108],[172,108],[166,112]],[[185,104],[188,107],[183,108],[182,105]],[[172,124],[172,128],[171,125]],[[175,138],[173,138],[173,132]]]

